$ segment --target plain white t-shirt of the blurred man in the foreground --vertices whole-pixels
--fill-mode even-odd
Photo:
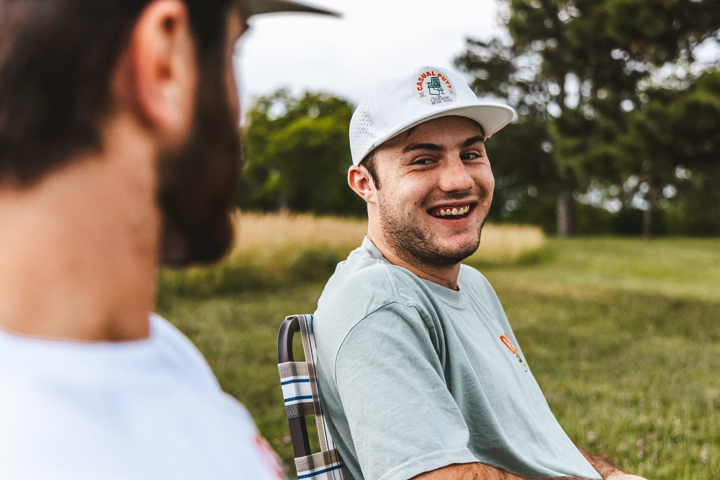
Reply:
[[[0,330],[0,479],[284,479],[200,352],[150,337],[85,343]]]

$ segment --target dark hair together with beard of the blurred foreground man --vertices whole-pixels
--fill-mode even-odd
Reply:
[[[29,187],[102,153],[111,83],[150,0],[0,0],[0,185]],[[185,0],[199,73],[194,128],[158,164],[161,259],[212,262],[232,244],[239,133],[225,84],[229,0]]]

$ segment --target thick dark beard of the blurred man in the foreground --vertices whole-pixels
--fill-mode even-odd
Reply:
[[[208,63],[198,82],[190,138],[158,167],[161,261],[167,265],[215,262],[233,244],[240,133],[224,94],[222,69]]]

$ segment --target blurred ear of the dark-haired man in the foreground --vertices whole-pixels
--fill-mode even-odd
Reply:
[[[161,135],[184,136],[192,126],[197,57],[182,0],[153,0],[130,41],[132,88],[140,115]]]

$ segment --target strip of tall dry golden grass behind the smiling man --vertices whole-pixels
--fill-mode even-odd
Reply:
[[[309,214],[235,215],[236,239],[228,257],[212,267],[162,270],[160,293],[208,296],[320,281],[361,243],[367,222]],[[533,226],[486,225],[471,265],[508,265],[537,254],[544,243]]]

